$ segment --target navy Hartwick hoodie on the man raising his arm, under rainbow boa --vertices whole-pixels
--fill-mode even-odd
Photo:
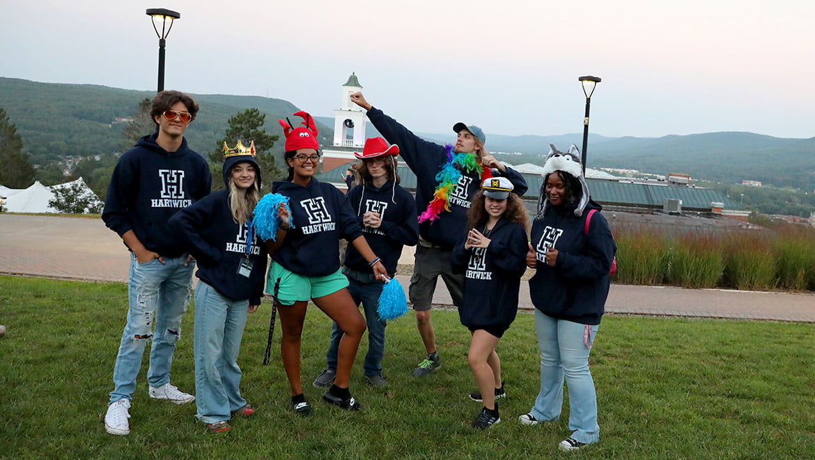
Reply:
[[[414,135],[378,108],[368,110],[368,119],[390,144],[399,145],[399,155],[416,175],[416,211],[421,215],[433,200],[433,193],[438,185],[436,175],[447,163],[447,151],[442,145]],[[526,180],[518,171],[507,168],[505,173],[492,170],[492,174],[509,179],[515,187],[513,192],[518,197],[526,193]],[[465,232],[470,200],[480,188],[481,178],[477,173],[462,172],[458,187],[450,197],[450,211],[442,211],[437,219],[419,224],[421,237],[435,245],[452,249],[459,236]]]

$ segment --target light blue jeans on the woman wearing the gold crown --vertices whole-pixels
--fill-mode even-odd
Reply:
[[[204,281],[196,285],[196,406],[201,422],[231,418],[246,405],[240,396],[237,359],[244,336],[249,299],[231,300]]]

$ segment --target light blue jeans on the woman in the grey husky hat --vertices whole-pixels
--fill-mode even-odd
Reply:
[[[563,405],[563,378],[569,387],[569,429],[578,442],[600,440],[597,396],[588,370],[588,352],[598,325],[558,320],[535,309],[535,332],[540,348],[540,393],[531,414],[541,421],[556,420]],[[587,346],[588,344],[588,346]]]

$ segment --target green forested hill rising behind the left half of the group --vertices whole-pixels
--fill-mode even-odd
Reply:
[[[132,117],[139,101],[154,95],[153,91],[0,77],[0,107],[22,136],[24,151],[31,154],[33,163],[41,166],[67,157],[118,153],[130,148],[131,143],[121,135],[125,123],[117,122],[117,118]],[[203,154],[212,151],[218,139],[222,139],[229,117],[246,108],[267,113],[264,127],[278,135],[282,135],[282,130],[277,120],[291,117],[298,110],[288,101],[258,96],[193,96],[201,109],[187,130],[187,140]],[[320,137],[333,139],[333,130],[319,128]],[[282,148],[283,143],[279,142],[274,151],[282,152]]]

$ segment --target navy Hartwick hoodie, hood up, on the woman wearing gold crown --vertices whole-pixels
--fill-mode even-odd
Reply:
[[[231,300],[249,300],[249,305],[260,305],[267,267],[266,245],[253,234],[249,245],[252,272],[249,277],[238,274],[246,258],[248,225],[238,225],[229,210],[229,179],[232,166],[247,161],[255,167],[255,180],[260,187],[258,163],[253,157],[240,155],[223,161],[223,182],[226,190],[178,211],[170,219],[170,228],[183,237],[185,247],[198,261],[196,276]]]

